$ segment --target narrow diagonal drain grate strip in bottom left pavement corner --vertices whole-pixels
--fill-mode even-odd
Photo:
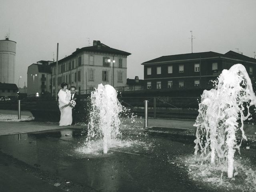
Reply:
[[[55,186],[56,184],[58,184],[58,188],[61,188],[62,190],[65,190],[68,192],[98,192],[98,190],[95,190],[91,187],[76,184],[70,180],[65,180],[64,178],[61,178],[57,175],[51,174],[47,171],[31,166],[30,164],[27,164],[21,160],[18,160],[17,158],[14,158],[1,151],[0,151],[0,163],[13,164],[15,167],[20,168],[24,172],[32,174],[33,176],[40,178],[45,182],[48,182],[49,184],[52,184]],[[67,183],[67,182],[70,182],[70,183]]]

